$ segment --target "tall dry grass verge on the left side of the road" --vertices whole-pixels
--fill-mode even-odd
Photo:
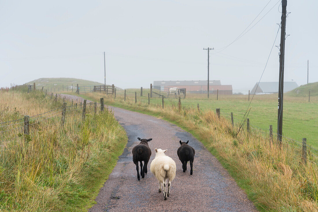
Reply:
[[[0,122],[62,106],[39,91],[1,90],[0,99]],[[0,125],[18,126],[0,137],[0,211],[85,211],[116,164],[127,137],[111,111],[87,105],[83,121],[80,105],[68,107],[64,126],[56,111],[30,118],[30,135],[20,121]]]

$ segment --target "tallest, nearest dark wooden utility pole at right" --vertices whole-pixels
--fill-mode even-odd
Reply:
[[[278,85],[278,117],[277,117],[277,141],[282,146],[283,134],[283,93],[284,93],[284,59],[285,59],[285,30],[287,0],[281,1],[281,25],[280,25],[280,56],[279,56],[279,85]]]

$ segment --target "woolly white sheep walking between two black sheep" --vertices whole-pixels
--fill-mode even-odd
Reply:
[[[159,192],[161,192],[163,184],[163,197],[167,200],[167,196],[170,194],[170,185],[176,176],[176,163],[172,158],[165,155],[167,151],[162,149],[155,149],[155,159],[151,161],[150,171],[154,174],[159,181]],[[166,191],[166,183],[168,182],[168,192]]]

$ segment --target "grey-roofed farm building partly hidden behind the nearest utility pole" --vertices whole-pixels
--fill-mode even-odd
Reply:
[[[254,85],[251,93],[255,92],[257,84]],[[284,92],[291,91],[297,87],[296,82],[284,82]],[[260,82],[255,93],[278,93],[278,82]]]

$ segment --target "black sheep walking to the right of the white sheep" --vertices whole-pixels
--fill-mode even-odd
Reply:
[[[194,148],[190,147],[188,143],[189,140],[187,142],[181,142],[180,140],[181,147],[178,148],[177,155],[182,163],[183,172],[187,170],[187,163],[190,161],[190,175],[192,175],[193,160],[196,151],[194,151]]]

